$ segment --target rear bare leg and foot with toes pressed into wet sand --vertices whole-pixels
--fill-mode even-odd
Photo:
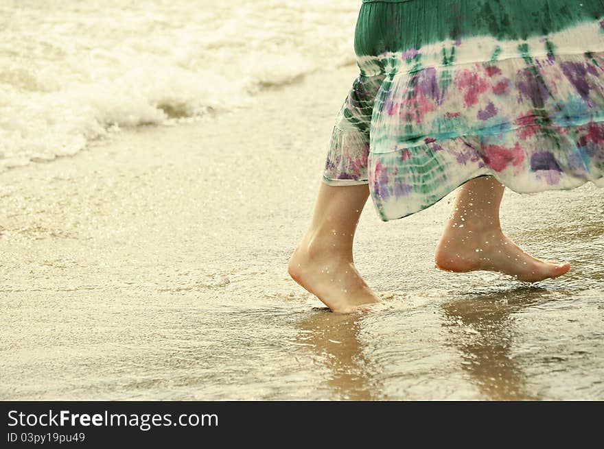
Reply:
[[[380,302],[353,263],[354,234],[368,197],[368,184],[321,182],[310,228],[288,264],[290,276],[334,312]]]

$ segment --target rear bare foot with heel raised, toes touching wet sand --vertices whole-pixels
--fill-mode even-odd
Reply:
[[[367,311],[380,302],[348,258],[324,248],[303,241],[288,263],[290,276],[333,312]]]

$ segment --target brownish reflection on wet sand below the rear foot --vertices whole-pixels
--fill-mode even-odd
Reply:
[[[297,341],[309,345],[316,363],[331,372],[326,383],[333,399],[376,400],[381,391],[375,385],[371,361],[363,355],[361,323],[362,315],[317,308],[296,324]]]

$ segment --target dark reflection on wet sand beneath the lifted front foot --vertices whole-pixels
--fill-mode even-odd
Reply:
[[[548,291],[518,287],[511,291],[473,294],[442,304],[445,325],[461,352],[463,369],[489,400],[539,400],[526,387],[526,375],[512,355],[513,315],[547,302]]]

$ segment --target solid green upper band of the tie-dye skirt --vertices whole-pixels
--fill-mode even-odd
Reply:
[[[358,56],[419,49],[443,40],[524,40],[604,17],[604,0],[364,0]]]

